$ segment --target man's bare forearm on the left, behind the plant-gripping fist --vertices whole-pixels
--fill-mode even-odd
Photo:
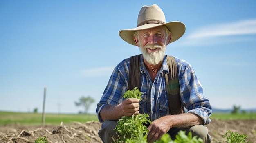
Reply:
[[[106,105],[100,111],[100,116],[103,121],[106,120],[118,120],[124,116],[121,104],[118,105]]]

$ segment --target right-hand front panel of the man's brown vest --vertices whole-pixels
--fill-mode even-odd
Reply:
[[[165,74],[168,103],[170,114],[180,114],[184,112],[184,108],[180,101],[180,83],[178,76],[177,63],[173,56],[166,56],[169,73]]]

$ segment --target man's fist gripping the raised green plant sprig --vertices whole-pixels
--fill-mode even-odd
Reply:
[[[128,98],[121,104],[122,112],[125,116],[132,116],[139,114],[139,99]]]

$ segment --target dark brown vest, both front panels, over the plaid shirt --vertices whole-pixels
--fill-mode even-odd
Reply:
[[[128,90],[133,90],[135,87],[141,88],[141,56],[142,54],[130,57]],[[177,64],[174,57],[166,56],[166,60],[169,68],[169,73],[165,74],[165,79],[170,114],[180,114],[184,112],[184,108],[180,101],[180,84],[177,74]]]

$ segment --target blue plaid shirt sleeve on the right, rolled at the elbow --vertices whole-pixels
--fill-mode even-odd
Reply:
[[[192,66],[184,60],[177,60],[180,80],[180,96],[182,105],[188,110],[187,113],[196,114],[202,118],[203,124],[211,122],[209,118],[212,107],[209,99],[203,95],[203,88],[195,75]]]

